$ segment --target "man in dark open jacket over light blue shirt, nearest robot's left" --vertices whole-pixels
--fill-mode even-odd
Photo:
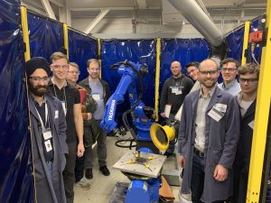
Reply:
[[[80,81],[79,85],[87,89],[88,94],[91,95],[98,104],[96,111],[93,113],[93,117],[97,121],[98,125],[98,137],[97,137],[98,166],[99,171],[101,171],[103,175],[108,176],[110,175],[110,171],[107,169],[107,145],[106,145],[107,134],[100,127],[100,122],[104,114],[105,105],[107,104],[107,100],[110,96],[109,86],[105,80],[99,78],[100,65],[98,60],[96,59],[88,60],[87,69],[89,72],[89,77]],[[89,159],[85,161],[86,169],[85,177],[90,180],[93,178],[92,161],[94,160],[94,155],[92,147],[89,147],[86,153]]]

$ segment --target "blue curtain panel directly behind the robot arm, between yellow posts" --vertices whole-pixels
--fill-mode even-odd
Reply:
[[[144,97],[146,106],[154,106],[156,40],[110,40],[101,42],[102,78],[107,80],[113,93],[120,77],[110,66],[124,60],[146,63],[148,73],[144,76]],[[126,99],[127,101],[127,99]],[[125,102],[126,103],[126,102]],[[125,109],[129,107],[128,102]],[[123,108],[122,108],[123,109]]]

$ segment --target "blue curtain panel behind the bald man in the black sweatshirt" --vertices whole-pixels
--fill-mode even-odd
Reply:
[[[191,61],[201,61],[209,56],[209,44],[203,39],[163,39],[161,42],[160,93],[165,79],[171,77],[171,63],[178,60],[185,65]]]

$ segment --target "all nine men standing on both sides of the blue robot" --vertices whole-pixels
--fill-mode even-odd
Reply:
[[[107,168],[106,132],[99,124],[109,97],[96,59],[87,61],[89,77],[78,82],[79,66],[61,52],[26,62],[33,174],[37,202],[72,203],[74,184],[89,189],[93,149],[99,171]],[[161,115],[180,121],[178,162],[184,169],[182,194],[192,202],[244,203],[257,99],[259,67],[225,59],[186,65],[173,61],[164,82]],[[220,72],[223,82],[218,84]],[[238,79],[237,79],[238,75]],[[173,153],[174,143],[167,151]]]

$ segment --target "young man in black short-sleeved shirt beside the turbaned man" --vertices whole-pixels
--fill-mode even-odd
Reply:
[[[69,154],[66,157],[66,167],[63,171],[67,203],[74,199],[74,168],[76,156],[83,156],[85,148],[83,143],[83,119],[81,114],[79,90],[70,85],[66,80],[69,69],[69,60],[61,52],[51,54],[52,77],[49,82],[51,95],[61,100],[61,105],[66,115],[67,143]],[[64,117],[62,118],[64,119]]]

